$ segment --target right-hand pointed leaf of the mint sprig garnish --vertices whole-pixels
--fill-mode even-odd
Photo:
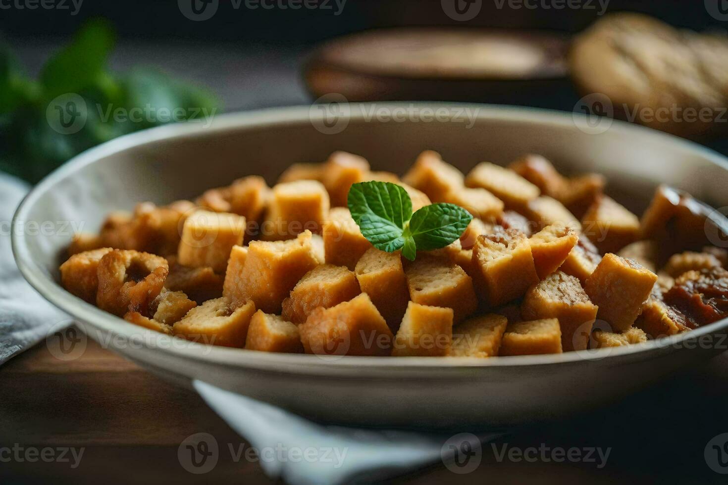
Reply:
[[[439,249],[458,239],[471,220],[472,215],[455,204],[432,204],[412,215],[408,235],[420,251]]]

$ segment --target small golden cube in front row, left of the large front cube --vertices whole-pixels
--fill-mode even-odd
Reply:
[[[245,348],[263,352],[302,353],[301,334],[298,326],[281,316],[256,311],[250,318]]]

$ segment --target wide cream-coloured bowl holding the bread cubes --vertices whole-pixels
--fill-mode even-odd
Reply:
[[[458,121],[468,112],[456,116],[465,108],[472,126]],[[451,121],[425,121],[438,109],[451,113]],[[483,160],[505,164],[541,153],[565,172],[604,173],[610,193],[638,213],[659,183],[728,206],[726,159],[643,127],[614,122],[594,133],[579,115],[491,105],[376,103],[341,113],[327,124],[318,107],[232,113],[210,127],[168,125],[82,153],[37,185],[17,210],[17,264],[90,337],[152,371],[183,383],[205,380],[325,422],[469,428],[558,417],[620,398],[725,345],[728,320],[629,348],[480,360],[331,360],[210,347],[140,329],[63,290],[58,264],[70,231],[17,231],[28,221],[73,221],[95,231],[108,212],[137,201],[190,199],[250,174],[273,183],[289,164],[320,161],[335,150],[359,153],[374,169],[394,172],[425,148],[463,171]],[[404,114],[392,121],[387,113]]]

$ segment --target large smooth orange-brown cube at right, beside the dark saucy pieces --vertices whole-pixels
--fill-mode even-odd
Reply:
[[[622,332],[632,326],[656,281],[657,275],[635,260],[607,253],[587,278],[584,290],[599,307],[597,318]]]

